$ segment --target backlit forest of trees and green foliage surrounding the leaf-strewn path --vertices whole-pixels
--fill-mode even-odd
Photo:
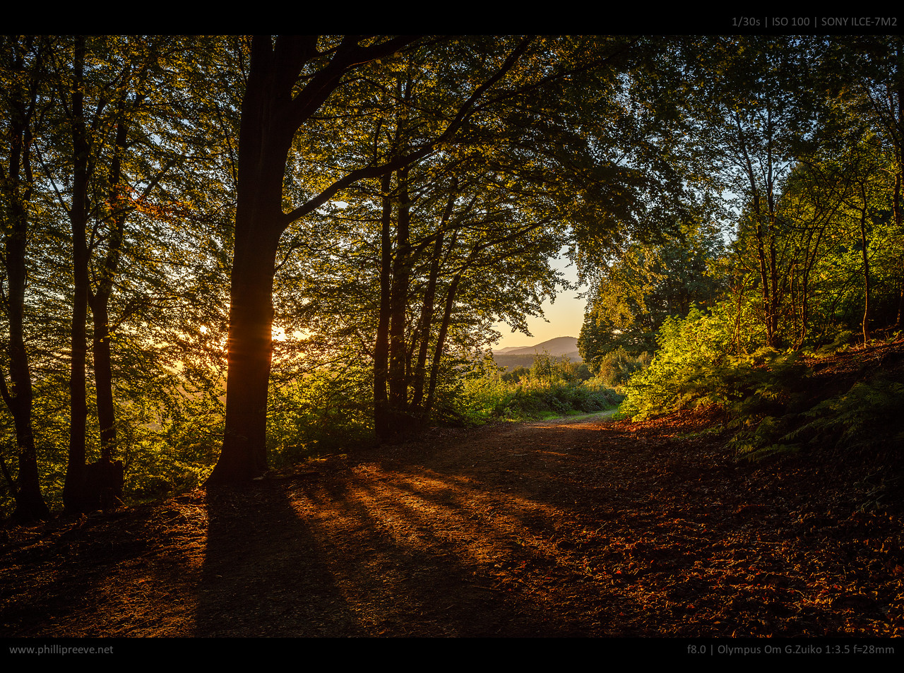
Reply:
[[[0,39],[11,521],[540,408],[900,440],[789,402],[904,326],[899,36]],[[504,379],[561,250],[590,378]]]

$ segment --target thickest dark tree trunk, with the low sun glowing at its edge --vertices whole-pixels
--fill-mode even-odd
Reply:
[[[297,73],[275,59],[269,38],[252,48],[241,107],[238,202],[230,289],[226,427],[208,483],[236,483],[267,471],[267,387],[273,350],[273,276],[286,227],[282,186],[295,127],[287,96]],[[288,81],[288,85],[287,85]]]

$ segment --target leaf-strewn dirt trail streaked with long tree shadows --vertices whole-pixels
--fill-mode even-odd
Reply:
[[[0,635],[904,633],[899,515],[841,468],[735,462],[713,420],[434,429],[17,528]]]

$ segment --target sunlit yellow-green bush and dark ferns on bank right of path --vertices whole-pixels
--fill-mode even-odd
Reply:
[[[836,353],[848,349],[844,336],[810,360],[831,367]],[[684,408],[722,407],[734,433],[729,447],[751,461],[816,449],[882,452],[895,459],[895,447],[904,442],[904,383],[867,360],[846,379],[834,379],[848,381],[839,392],[837,383],[824,389],[833,375],[816,376],[801,352],[761,348],[732,354],[724,326],[711,315],[692,312],[666,321],[659,343],[650,366],[624,386],[622,416],[643,420]]]

